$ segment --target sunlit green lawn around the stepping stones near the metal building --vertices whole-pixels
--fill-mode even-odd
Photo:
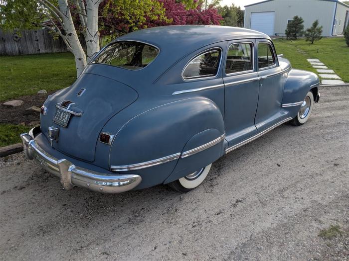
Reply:
[[[342,37],[328,37],[310,44],[300,40],[273,40],[278,54],[290,60],[292,67],[317,73],[307,59],[319,59],[335,71],[345,83],[349,83],[349,47]]]

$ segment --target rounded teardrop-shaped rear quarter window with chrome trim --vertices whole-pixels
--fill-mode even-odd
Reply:
[[[210,50],[193,58],[184,68],[183,79],[212,77],[218,72],[221,52]]]

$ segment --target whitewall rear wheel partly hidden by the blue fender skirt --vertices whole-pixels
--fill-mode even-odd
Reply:
[[[184,177],[181,177],[168,185],[172,187],[174,190],[179,192],[188,192],[196,187],[198,187],[202,181],[206,178],[209,170],[211,169],[211,165],[207,165],[205,168],[188,174]]]

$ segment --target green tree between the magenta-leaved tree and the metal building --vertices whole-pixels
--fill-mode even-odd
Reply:
[[[218,13],[223,17],[222,25],[226,26],[243,26],[244,23],[244,11],[240,6],[236,6],[233,3],[228,6],[218,6]]]

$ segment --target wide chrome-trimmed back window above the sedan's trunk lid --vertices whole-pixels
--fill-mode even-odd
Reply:
[[[159,49],[140,42],[121,41],[108,45],[93,61],[129,70],[140,70],[158,56]]]

